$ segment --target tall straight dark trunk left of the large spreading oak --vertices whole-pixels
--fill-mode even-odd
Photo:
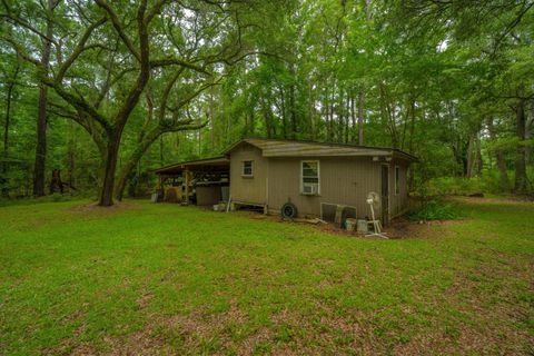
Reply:
[[[52,12],[56,6],[55,0],[48,0],[47,38],[52,38],[53,22]],[[48,39],[42,40],[41,68],[42,76],[48,77],[50,66],[51,42]],[[33,168],[33,196],[42,197],[44,195],[44,167],[47,159],[47,101],[48,87],[44,83],[39,85],[39,102],[37,115],[37,146],[36,164]]]

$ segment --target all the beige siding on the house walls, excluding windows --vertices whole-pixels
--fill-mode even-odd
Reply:
[[[243,162],[253,161],[253,177],[243,176]],[[317,196],[301,194],[301,162],[319,161]],[[271,212],[291,201],[299,216],[320,216],[320,202],[356,207],[358,218],[370,216],[366,197],[369,191],[382,192],[382,166],[389,171],[389,217],[403,212],[407,204],[407,162],[374,161],[367,157],[264,157],[261,149],[241,142],[230,151],[230,194],[234,201],[267,205]],[[399,167],[399,194],[395,195],[395,166]],[[379,217],[382,211],[376,211]]]

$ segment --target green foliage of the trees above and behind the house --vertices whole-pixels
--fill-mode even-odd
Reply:
[[[195,135],[165,134],[160,147],[147,150],[139,171],[155,161],[218,154],[241,136],[356,142],[360,128],[364,145],[395,146],[422,157],[414,182],[466,174],[472,137],[482,141],[486,166],[495,165],[497,150],[505,151],[508,167],[515,165],[511,155],[524,139],[514,138],[514,106],[534,95],[528,1],[148,1],[146,88],[138,87],[139,3],[59,2],[53,11],[53,42],[61,46],[52,50],[50,75],[65,73],[57,92],[49,91],[55,105],[75,105],[98,118],[83,126],[92,127],[95,138],[105,135],[100,123],[112,128],[132,92],[144,91],[123,131],[121,165],[138,151],[139,137],[182,119],[209,125]],[[6,1],[0,12],[11,16],[2,18],[2,33],[37,59],[41,36],[36,31],[43,31],[47,19],[42,6]],[[20,58],[9,42],[0,50],[10,57],[0,66],[9,71]],[[27,89],[14,110],[29,120],[39,78],[26,66],[20,87]],[[2,89],[8,77],[0,77]],[[527,121],[533,119],[528,105]],[[495,122],[493,139],[486,135],[488,118]],[[24,137],[31,148],[33,128],[21,121],[13,117],[12,137]],[[63,126],[56,129],[53,135],[65,135]],[[100,139],[99,151],[107,140]],[[53,157],[66,151],[65,141],[55,142]],[[98,170],[93,160],[80,165]]]

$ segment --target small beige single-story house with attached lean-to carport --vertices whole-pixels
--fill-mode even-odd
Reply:
[[[376,215],[387,224],[405,211],[407,170],[415,160],[393,148],[247,138],[220,157],[162,167],[156,174],[185,177],[186,197],[192,186],[229,187],[227,197],[217,194],[204,201],[224,198],[233,206],[259,206],[273,214],[291,202],[301,217],[322,217],[330,206],[352,207],[357,218],[370,217],[366,199],[375,191],[382,197]]]

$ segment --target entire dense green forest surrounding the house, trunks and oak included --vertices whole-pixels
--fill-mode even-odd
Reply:
[[[48,195],[59,169],[109,206],[241,137],[399,148],[419,192],[532,194],[533,8],[2,0],[2,199]]]

